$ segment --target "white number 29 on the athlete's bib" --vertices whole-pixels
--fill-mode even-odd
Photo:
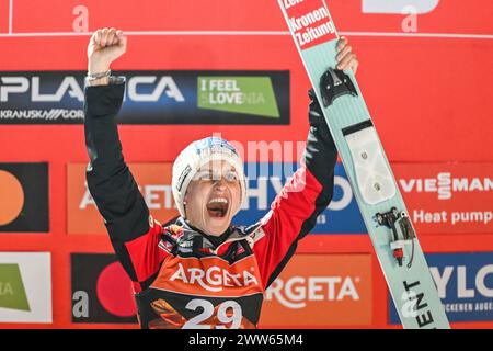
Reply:
[[[192,299],[186,306],[186,309],[197,310],[202,308],[202,313],[191,318],[183,329],[211,329],[213,325],[203,324],[205,320],[214,316],[214,305],[207,299]],[[226,301],[218,306],[217,319],[223,324],[216,326],[217,329],[238,329],[241,326],[242,312],[241,306],[236,301]],[[231,324],[231,327],[226,325]]]

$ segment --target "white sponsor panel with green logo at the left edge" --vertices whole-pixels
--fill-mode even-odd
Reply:
[[[0,252],[0,322],[51,322],[50,253]]]

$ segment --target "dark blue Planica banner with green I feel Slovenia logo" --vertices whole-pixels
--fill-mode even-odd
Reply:
[[[82,124],[84,75],[2,73],[0,123]],[[122,75],[119,124],[289,124],[289,71]]]

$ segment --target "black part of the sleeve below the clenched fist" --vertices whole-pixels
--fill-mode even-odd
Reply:
[[[123,82],[85,88],[84,132],[90,158],[87,181],[118,259],[137,281],[125,244],[149,231],[149,210],[125,163],[118,138],[115,117],[124,91]]]

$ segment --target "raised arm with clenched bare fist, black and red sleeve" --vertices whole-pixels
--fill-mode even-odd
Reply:
[[[115,117],[122,106],[125,81],[105,73],[125,49],[126,37],[114,29],[96,31],[89,44],[84,101],[85,146],[90,158],[87,181],[115,252],[135,282],[136,291],[140,291],[162,260],[158,249],[161,226],[150,217],[122,154]]]

